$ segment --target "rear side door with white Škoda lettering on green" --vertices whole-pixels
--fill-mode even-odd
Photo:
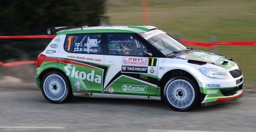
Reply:
[[[58,67],[66,73],[74,93],[102,93],[103,43],[100,33],[68,34],[58,54]]]

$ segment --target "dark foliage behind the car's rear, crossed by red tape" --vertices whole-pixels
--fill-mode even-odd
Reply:
[[[0,5],[0,35],[45,35],[58,26],[97,26],[104,1],[7,1]],[[50,39],[0,39],[0,61],[35,59]]]

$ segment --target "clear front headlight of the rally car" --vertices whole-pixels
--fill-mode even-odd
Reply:
[[[217,79],[228,79],[230,78],[228,72],[216,68],[201,68],[200,71],[207,77]]]

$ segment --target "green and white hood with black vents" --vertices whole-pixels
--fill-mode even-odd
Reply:
[[[220,67],[226,70],[230,70],[233,67],[237,67],[237,63],[233,62],[233,60],[228,57],[205,52],[205,51],[199,51],[199,50],[196,50],[195,52],[190,52],[187,54],[178,55],[175,58],[203,61],[203,62],[219,65]]]

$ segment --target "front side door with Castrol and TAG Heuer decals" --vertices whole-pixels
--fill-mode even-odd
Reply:
[[[158,58],[133,33],[108,33],[103,93],[155,96]]]

